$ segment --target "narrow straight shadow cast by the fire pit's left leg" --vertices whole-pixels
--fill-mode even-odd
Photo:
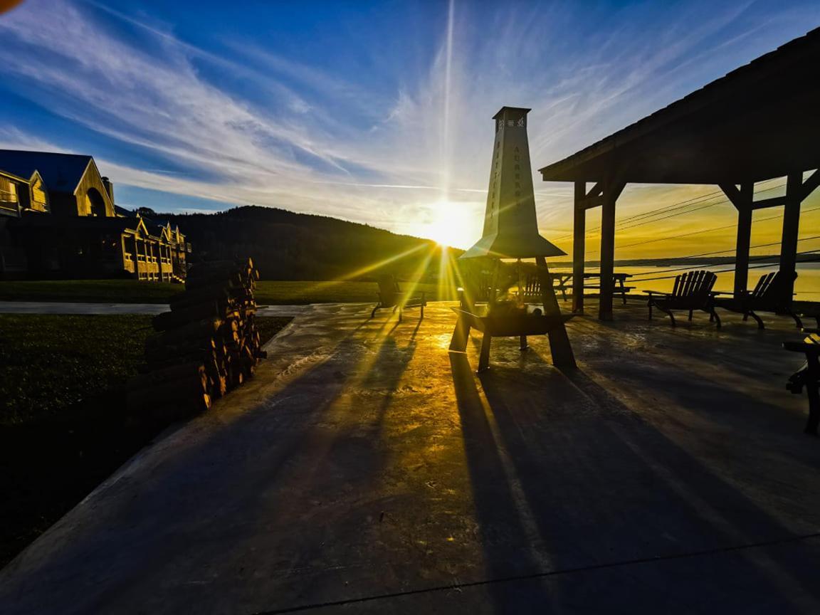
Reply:
[[[449,353],[449,358],[487,575],[492,579],[540,571],[467,355]],[[528,585],[522,592],[514,585],[494,583],[488,591],[497,613],[544,613],[548,604],[540,585]]]

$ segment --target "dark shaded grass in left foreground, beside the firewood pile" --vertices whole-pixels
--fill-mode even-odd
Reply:
[[[259,317],[262,339],[290,321]],[[166,425],[125,413],[151,317],[0,314],[0,567]]]

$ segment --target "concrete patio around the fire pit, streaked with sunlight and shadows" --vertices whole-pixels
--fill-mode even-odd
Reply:
[[[0,573],[3,613],[818,613],[820,442],[786,321],[576,317],[448,353],[453,314],[312,306],[257,378]]]

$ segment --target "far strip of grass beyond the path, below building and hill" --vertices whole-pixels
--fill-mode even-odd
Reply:
[[[412,285],[405,282],[403,289]],[[311,282],[262,280],[257,283],[260,305],[305,303],[367,303],[376,300],[375,282]],[[182,286],[136,280],[37,280],[0,281],[0,301],[64,301],[90,303],[166,303]],[[430,301],[455,298],[454,289],[440,292],[438,285],[421,284]]]

